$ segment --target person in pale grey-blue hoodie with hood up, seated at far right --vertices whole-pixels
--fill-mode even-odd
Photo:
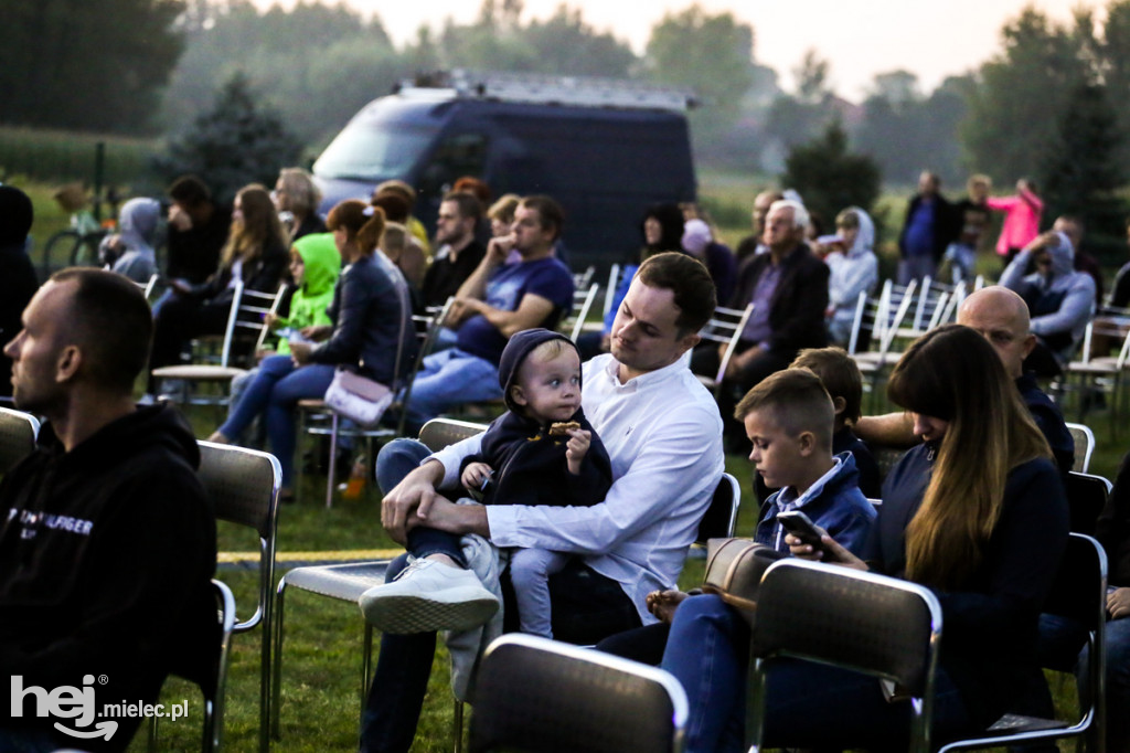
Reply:
[[[1036,269],[1031,275],[1029,263]],[[1036,236],[1005,269],[1000,284],[1019,294],[1032,315],[1036,347],[1025,369],[1037,376],[1061,373],[1095,312],[1095,280],[1075,270],[1071,241],[1058,231]]]

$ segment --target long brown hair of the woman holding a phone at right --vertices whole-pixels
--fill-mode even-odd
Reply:
[[[906,578],[960,586],[981,563],[1016,466],[1051,458],[997,352],[981,335],[946,324],[906,350],[887,384],[893,403],[949,422],[922,505],[906,527]]]

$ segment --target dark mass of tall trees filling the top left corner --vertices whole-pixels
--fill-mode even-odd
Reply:
[[[181,54],[181,0],[0,0],[10,123],[142,131]]]

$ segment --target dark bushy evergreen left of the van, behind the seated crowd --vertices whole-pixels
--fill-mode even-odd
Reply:
[[[301,148],[276,113],[255,105],[246,77],[236,73],[212,110],[169,144],[156,168],[169,180],[201,175],[219,199],[229,201],[247,183],[273,185],[279,170],[295,164]]]

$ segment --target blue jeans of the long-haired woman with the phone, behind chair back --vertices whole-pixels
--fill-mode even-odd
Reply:
[[[745,750],[749,628],[712,595],[679,605],[661,666],[690,701],[687,753]],[[766,747],[905,750],[910,703],[887,703],[879,681],[793,659],[774,660],[767,680]],[[970,732],[960,694],[941,669],[935,691],[933,733]]]

